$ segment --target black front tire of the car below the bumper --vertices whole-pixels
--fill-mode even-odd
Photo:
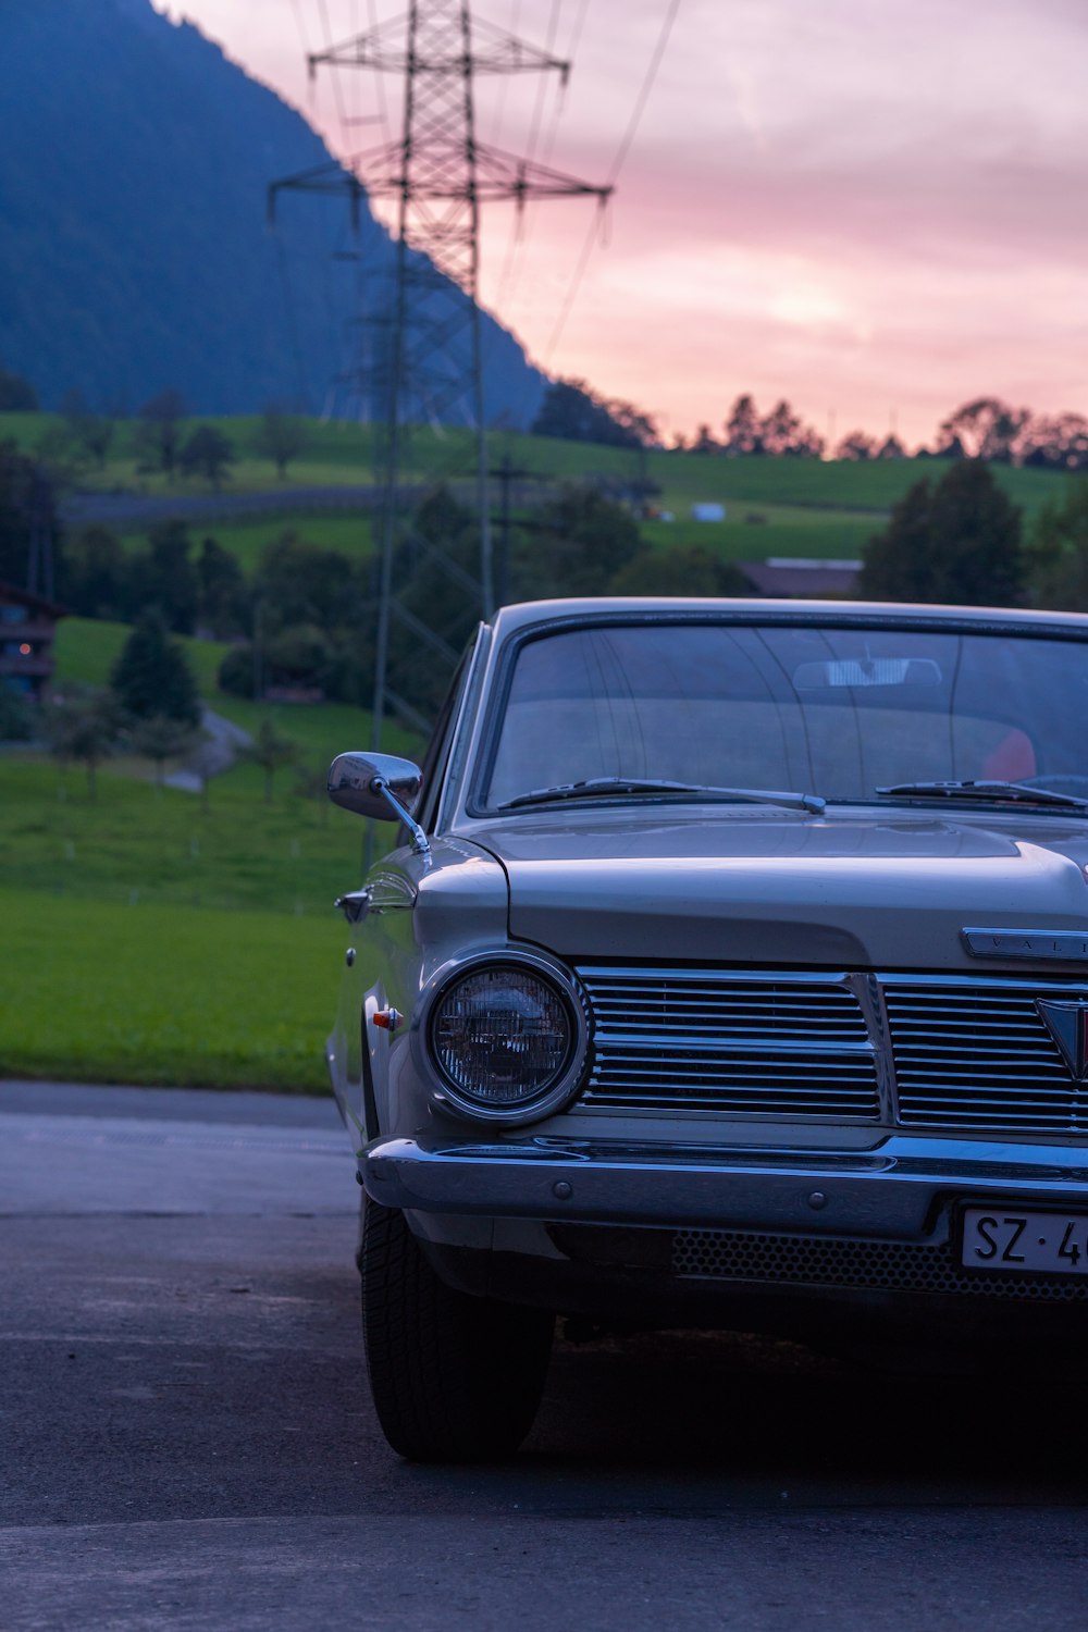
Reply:
[[[533,1425],[555,1317],[455,1293],[405,1214],[364,1203],[362,1332],[385,1438],[413,1462],[509,1456]]]

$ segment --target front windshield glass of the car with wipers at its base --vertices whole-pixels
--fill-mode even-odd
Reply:
[[[1086,718],[1077,640],[830,622],[561,630],[517,651],[483,805],[599,778],[842,801],[925,782],[1088,795]]]

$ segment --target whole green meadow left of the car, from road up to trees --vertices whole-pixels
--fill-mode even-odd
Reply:
[[[64,620],[57,689],[104,684],[126,635]],[[206,700],[248,730],[272,718],[310,772],[369,744],[365,712],[223,697],[225,646],[183,645]],[[387,728],[385,746],[421,744]],[[323,1092],[346,945],[333,901],[362,878],[364,823],[297,792],[290,769],[271,803],[246,764],[206,801],[135,759],[96,783],[91,800],[80,765],[0,756],[0,1074]]]

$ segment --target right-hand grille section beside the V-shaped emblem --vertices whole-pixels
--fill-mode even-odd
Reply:
[[[1070,1075],[1036,997],[1083,1002],[1088,987],[886,978],[899,1121],[1088,1133],[1088,1084]]]

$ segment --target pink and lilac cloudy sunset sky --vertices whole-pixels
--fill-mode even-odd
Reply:
[[[982,395],[1088,415],[1088,0],[680,0],[621,157],[672,3],[473,7],[573,59],[564,93],[478,80],[481,139],[597,184],[620,163],[604,220],[587,199],[530,207],[520,233],[486,212],[481,299],[535,362],[667,437],[718,434],[742,392],[832,442],[930,442]],[[398,131],[396,77],[308,83],[305,51],[405,0],[155,5],[338,155],[382,140],[382,114]]]

